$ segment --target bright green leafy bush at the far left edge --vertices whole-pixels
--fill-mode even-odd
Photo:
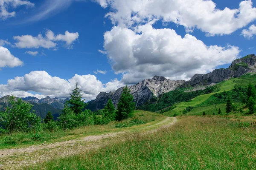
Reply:
[[[40,126],[41,119],[31,113],[32,105],[14,96],[9,98],[9,106],[0,112],[0,132],[28,131]]]

